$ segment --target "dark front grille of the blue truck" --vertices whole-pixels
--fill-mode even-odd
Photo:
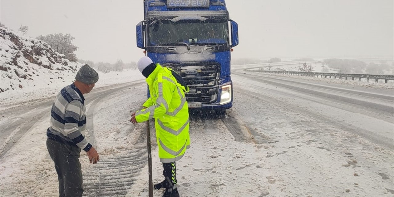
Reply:
[[[220,66],[216,63],[205,63],[205,65],[167,63],[163,66],[173,69],[182,76],[190,88],[189,93],[186,93],[186,100],[189,103],[210,104],[217,100]]]

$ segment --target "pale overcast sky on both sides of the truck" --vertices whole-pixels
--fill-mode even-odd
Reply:
[[[137,3],[136,3],[137,2]],[[70,33],[80,59],[137,61],[142,0],[1,0],[0,21],[30,37]],[[134,4],[133,4],[134,3]],[[393,0],[226,0],[232,58],[394,56]]]

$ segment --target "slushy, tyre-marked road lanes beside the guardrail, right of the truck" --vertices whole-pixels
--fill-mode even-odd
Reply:
[[[365,137],[394,151],[394,91],[305,82],[255,72],[235,72],[245,94],[279,102],[302,115],[333,122],[333,126]],[[259,105],[256,105],[259,106]]]

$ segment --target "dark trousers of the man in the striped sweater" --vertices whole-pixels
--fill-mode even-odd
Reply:
[[[82,197],[81,149],[67,141],[46,140],[50,158],[55,162],[59,180],[59,197]]]

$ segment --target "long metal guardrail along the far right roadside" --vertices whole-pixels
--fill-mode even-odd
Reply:
[[[361,81],[361,79],[366,79],[369,82],[370,79],[375,79],[375,82],[379,82],[379,79],[385,80],[387,84],[388,80],[394,80],[394,75],[390,74],[351,74],[351,73],[332,73],[332,72],[299,72],[299,71],[264,71],[264,70],[250,70],[245,69],[244,71],[248,72],[265,72],[265,73],[275,73],[275,74],[291,74],[291,75],[299,75],[299,76],[313,76],[319,78],[351,78],[354,80],[355,78]]]

